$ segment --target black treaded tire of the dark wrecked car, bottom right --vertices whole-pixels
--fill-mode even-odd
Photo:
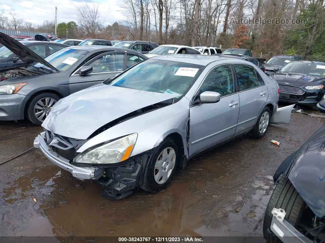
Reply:
[[[282,176],[274,188],[266,207],[263,222],[263,235],[266,241],[269,243],[278,243],[281,242],[278,237],[270,236],[267,233],[271,227],[273,208],[284,209],[286,212],[285,219],[294,227],[299,225],[306,208],[306,203],[286,176]]]

